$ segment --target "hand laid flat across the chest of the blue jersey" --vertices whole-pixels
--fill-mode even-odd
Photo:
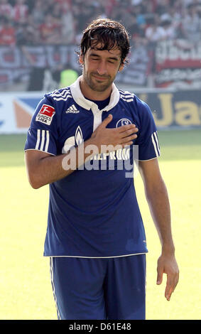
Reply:
[[[115,146],[126,146],[133,144],[133,139],[136,139],[136,132],[138,129],[135,124],[123,125],[118,128],[108,129],[107,124],[112,121],[112,114],[104,119],[104,121],[97,127],[97,129],[92,134],[92,139],[94,144],[96,144],[99,149],[101,146],[113,147]],[[119,149],[119,147],[117,147]]]

